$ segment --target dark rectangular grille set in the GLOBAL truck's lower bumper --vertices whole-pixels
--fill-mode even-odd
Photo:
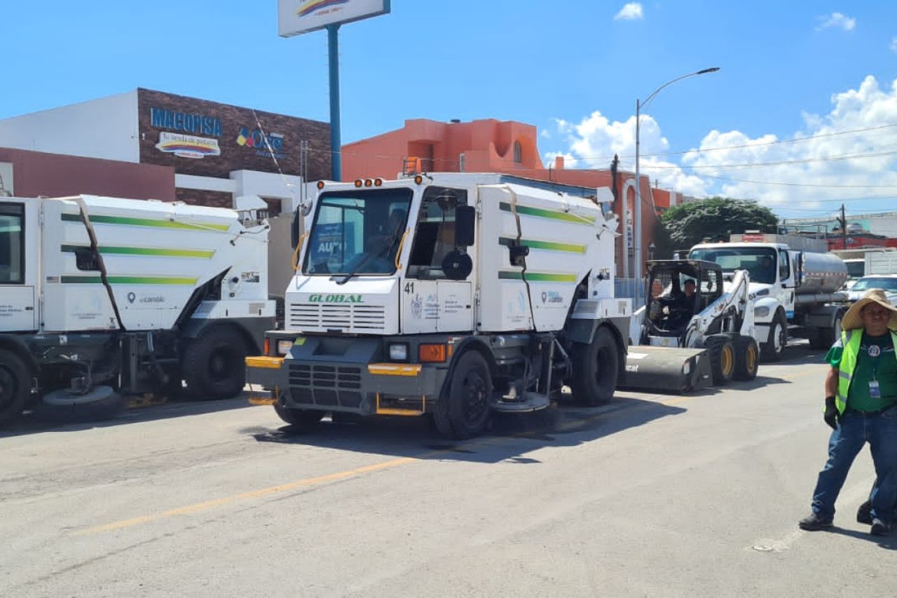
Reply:
[[[349,365],[290,365],[290,394],[299,403],[361,405],[361,368]]]

